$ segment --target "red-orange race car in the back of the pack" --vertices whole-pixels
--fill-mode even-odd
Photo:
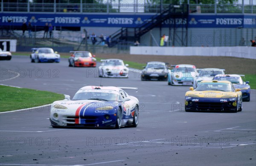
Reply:
[[[71,56],[68,58],[70,67],[96,67],[95,55],[88,51],[71,51]]]

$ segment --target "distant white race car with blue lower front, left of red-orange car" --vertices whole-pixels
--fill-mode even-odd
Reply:
[[[51,48],[33,48],[30,55],[31,62],[60,62],[61,56]]]

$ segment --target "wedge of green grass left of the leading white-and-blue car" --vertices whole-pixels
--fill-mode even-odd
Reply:
[[[63,99],[63,94],[0,86],[0,112],[43,106]]]

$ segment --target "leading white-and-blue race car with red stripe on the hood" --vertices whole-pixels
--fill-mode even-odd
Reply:
[[[139,100],[114,86],[84,86],[72,100],[52,103],[52,127],[136,127],[139,123]]]

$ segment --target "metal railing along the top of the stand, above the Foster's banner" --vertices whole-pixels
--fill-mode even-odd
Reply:
[[[168,5],[163,4],[162,9]],[[189,9],[191,13],[256,13],[256,5],[241,4],[189,4]],[[148,3],[1,3],[1,12],[158,13],[160,10],[160,4]]]

